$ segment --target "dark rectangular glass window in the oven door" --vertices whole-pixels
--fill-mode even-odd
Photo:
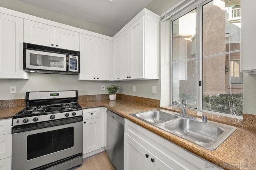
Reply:
[[[74,127],[28,135],[27,160],[74,146]]]

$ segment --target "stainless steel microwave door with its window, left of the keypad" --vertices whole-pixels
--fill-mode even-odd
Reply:
[[[26,49],[26,68],[37,70],[67,70],[66,55]]]

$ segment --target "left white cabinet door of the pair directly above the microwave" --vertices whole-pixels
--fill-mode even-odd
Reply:
[[[24,42],[55,47],[55,27],[24,20]]]

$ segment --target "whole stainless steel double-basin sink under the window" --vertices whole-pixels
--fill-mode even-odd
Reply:
[[[166,112],[158,109],[131,115],[208,150],[217,149],[237,129],[222,123],[213,121],[203,123],[199,118],[193,120],[174,115],[170,111]]]

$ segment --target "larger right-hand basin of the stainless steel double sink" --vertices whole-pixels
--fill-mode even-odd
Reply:
[[[164,123],[163,127],[182,137],[194,141],[210,143],[225,132],[225,129],[191,119],[177,119]]]

